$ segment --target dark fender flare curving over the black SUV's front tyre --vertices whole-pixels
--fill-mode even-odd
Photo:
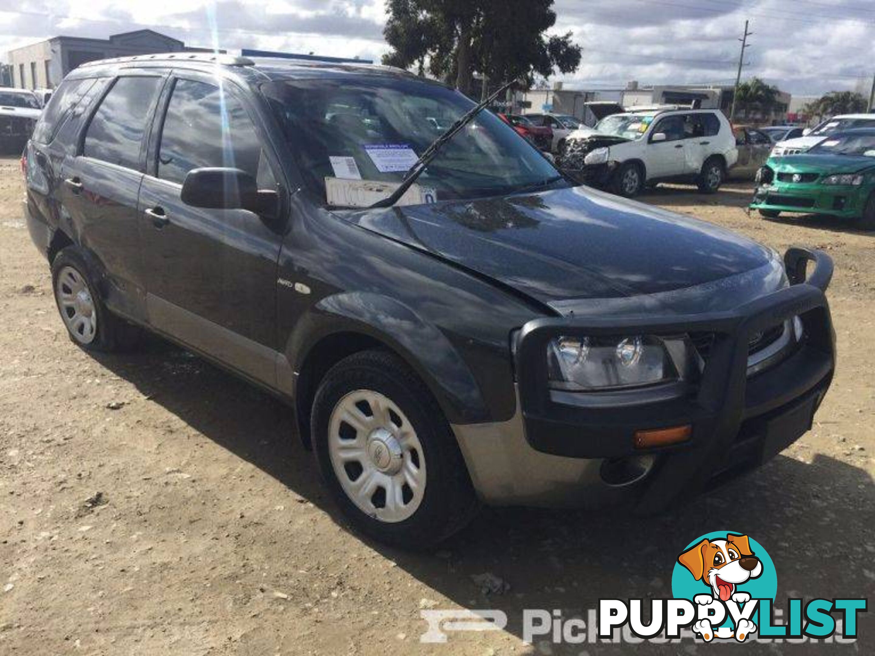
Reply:
[[[285,349],[294,373],[291,391],[296,405],[298,393],[307,393],[300,386],[300,374],[310,364],[314,347],[343,333],[369,338],[400,356],[429,387],[448,422],[489,421],[491,413],[477,380],[444,333],[407,305],[372,292],[325,297],[296,322]],[[299,422],[303,419],[298,417]]]

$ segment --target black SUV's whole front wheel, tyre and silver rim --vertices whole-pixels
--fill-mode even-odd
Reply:
[[[429,548],[478,504],[437,401],[409,366],[381,350],[354,353],[320,382],[312,443],[332,498],[363,534]]]

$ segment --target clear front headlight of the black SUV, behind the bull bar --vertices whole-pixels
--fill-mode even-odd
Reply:
[[[683,350],[683,341],[676,344]],[[550,387],[571,391],[642,387],[679,378],[667,342],[650,335],[559,337],[547,347],[547,368]]]

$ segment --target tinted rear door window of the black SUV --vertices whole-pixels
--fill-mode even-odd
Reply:
[[[158,77],[116,80],[91,117],[82,154],[138,170],[146,115],[161,81]]]

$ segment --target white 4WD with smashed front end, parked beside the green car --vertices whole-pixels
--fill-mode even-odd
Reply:
[[[596,134],[568,136],[558,164],[586,184],[627,198],[660,182],[716,192],[739,158],[732,126],[716,109],[651,109],[606,117]]]

